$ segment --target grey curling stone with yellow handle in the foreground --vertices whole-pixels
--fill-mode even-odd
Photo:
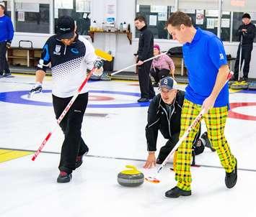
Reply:
[[[118,173],[118,183],[126,187],[136,187],[144,183],[144,174],[137,170],[132,165],[126,165],[125,167],[131,170],[123,170]]]

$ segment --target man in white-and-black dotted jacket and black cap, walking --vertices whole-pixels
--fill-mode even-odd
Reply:
[[[94,47],[76,32],[74,19],[69,16],[58,18],[57,34],[50,37],[43,47],[37,65],[36,83],[30,93],[42,91],[45,71],[51,67],[53,77],[53,108],[56,119],[76,94],[87,70],[102,70],[102,60],[97,59]],[[83,88],[60,123],[65,136],[61,148],[60,174],[58,183],[69,183],[73,170],[82,163],[82,156],[88,152],[87,144],[81,138],[81,124],[87,108],[88,89]]]

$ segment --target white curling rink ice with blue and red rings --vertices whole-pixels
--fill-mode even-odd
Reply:
[[[27,98],[35,76],[0,78],[0,216],[256,216],[256,91],[230,92],[226,138],[238,161],[237,185],[227,189],[216,152],[205,149],[191,167],[190,197],[165,198],[174,187],[172,159],[161,183],[125,188],[117,183],[125,165],[144,170],[149,103],[137,103],[136,81],[90,81],[89,106],[81,130],[89,153],[70,183],[56,183],[63,134],[58,128],[35,162],[31,157],[55,126],[51,79],[43,93]],[[180,89],[184,89],[180,85]],[[157,89],[155,89],[157,90]],[[203,124],[203,131],[206,129]],[[158,150],[165,139],[159,133]],[[23,151],[23,152],[22,152]],[[27,152],[31,151],[31,152]]]

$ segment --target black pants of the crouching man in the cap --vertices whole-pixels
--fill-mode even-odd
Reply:
[[[201,133],[201,130],[199,128],[198,133],[195,135],[193,145],[200,138],[200,133]],[[165,158],[168,156],[169,152],[172,151],[172,149],[175,147],[175,144],[177,144],[177,142],[179,141],[179,136],[180,136],[180,133],[179,134],[173,134],[172,137],[170,139],[168,139],[167,143],[159,151],[159,155],[157,157],[157,158],[159,158],[159,160],[161,160],[161,161],[165,160]],[[197,149],[197,148],[198,147],[195,146],[195,149]],[[195,150],[195,152],[196,151],[197,150]]]

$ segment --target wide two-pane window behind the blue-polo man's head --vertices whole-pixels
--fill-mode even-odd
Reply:
[[[195,27],[200,27],[217,34],[219,0],[179,0],[178,6],[180,11],[185,12],[191,17]],[[164,27],[167,19],[174,11],[175,1],[136,1],[136,15],[141,14],[146,17],[148,27],[153,32],[155,39],[169,39],[170,36]],[[138,36],[139,32],[136,31],[136,37]]]

